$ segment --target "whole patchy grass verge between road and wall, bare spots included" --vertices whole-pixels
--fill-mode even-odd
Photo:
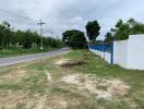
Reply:
[[[0,109],[144,109],[144,71],[86,50],[0,68]]]

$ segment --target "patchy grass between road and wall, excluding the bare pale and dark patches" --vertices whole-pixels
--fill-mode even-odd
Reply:
[[[60,59],[85,61],[86,64],[61,68],[55,64]],[[20,70],[26,71],[26,74],[19,75]],[[50,72],[52,82],[48,82],[45,70]],[[121,80],[131,88],[127,95],[111,100],[97,99],[95,94],[60,81],[73,73]],[[97,88],[107,89],[105,86]],[[11,97],[13,100],[10,101]],[[39,102],[46,109],[144,109],[144,71],[110,65],[87,50],[74,50],[59,57],[0,68],[0,109],[35,109]],[[133,104],[135,107],[131,106]]]

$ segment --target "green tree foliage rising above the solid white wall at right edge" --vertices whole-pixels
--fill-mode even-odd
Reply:
[[[144,24],[136,22],[134,19],[130,19],[125,23],[119,20],[111,32],[116,40],[124,40],[129,38],[129,35],[144,34]]]

